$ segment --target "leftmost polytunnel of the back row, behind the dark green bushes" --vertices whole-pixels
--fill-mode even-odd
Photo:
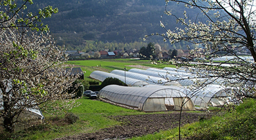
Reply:
[[[146,81],[141,81],[138,79],[131,79],[129,77],[122,77],[117,74],[102,72],[99,70],[95,70],[95,71],[91,72],[90,77],[93,79],[97,79],[99,81],[104,81],[104,79],[106,79],[108,77],[117,78],[117,79],[120,79],[120,81],[126,83],[128,86],[145,86],[145,85],[149,84]]]

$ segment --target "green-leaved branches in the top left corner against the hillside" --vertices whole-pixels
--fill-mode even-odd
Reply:
[[[46,6],[39,10],[30,12],[27,10],[29,5],[33,5],[32,0],[0,1],[0,28],[26,27],[31,28],[32,30],[47,32],[49,30],[48,25],[44,25],[44,23],[42,23],[42,19],[51,17],[53,13],[58,12],[58,9],[53,8],[52,6]],[[7,22],[10,23],[6,24]]]

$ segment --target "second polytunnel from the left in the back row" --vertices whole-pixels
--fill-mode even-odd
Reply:
[[[117,74],[122,77],[129,77],[132,79],[138,79],[141,81],[146,81],[149,84],[169,84],[166,79],[160,78],[160,77],[152,77],[146,74],[138,74],[135,72],[125,72],[124,70],[113,70],[111,71],[112,74]],[[171,84],[171,83],[170,83]]]

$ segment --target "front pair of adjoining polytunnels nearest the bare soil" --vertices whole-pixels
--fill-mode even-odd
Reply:
[[[208,106],[223,106],[223,98],[229,97],[232,90],[210,85],[200,91],[191,92],[179,86],[147,85],[145,87],[125,87],[110,85],[100,90],[103,101],[125,108],[145,112],[168,110],[196,110]]]

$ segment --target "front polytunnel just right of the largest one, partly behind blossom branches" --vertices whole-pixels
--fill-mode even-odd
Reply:
[[[205,109],[208,106],[219,107],[224,103],[229,103],[231,99],[232,89],[224,88],[219,85],[208,85],[205,88],[191,92],[191,99],[196,106],[196,109]]]

